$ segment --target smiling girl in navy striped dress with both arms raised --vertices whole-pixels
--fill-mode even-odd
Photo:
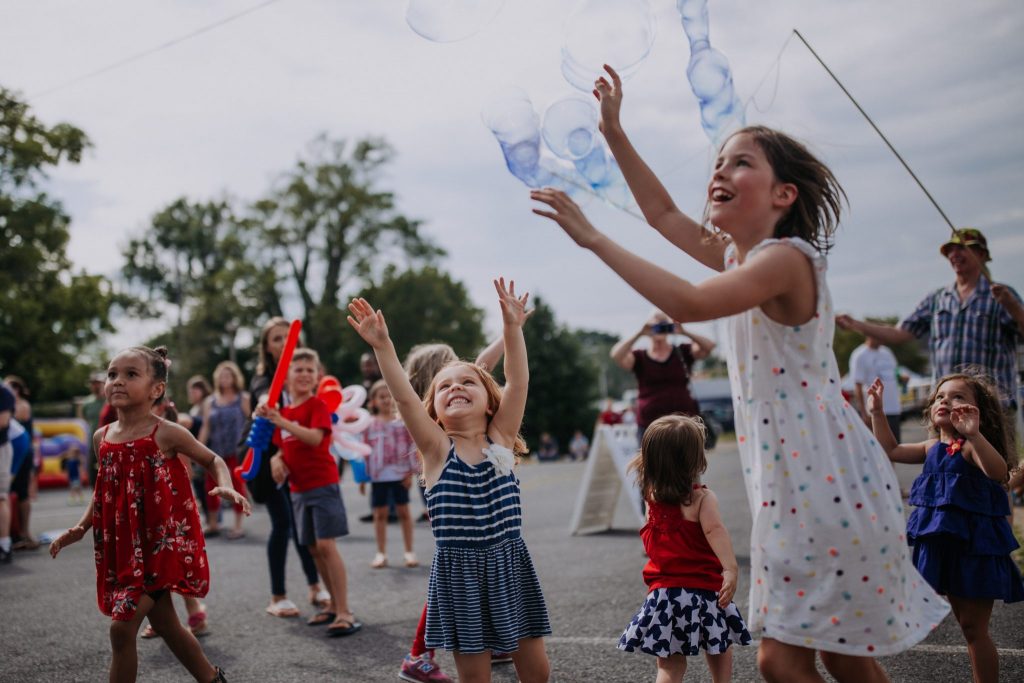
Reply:
[[[353,299],[349,324],[377,355],[384,380],[423,457],[436,542],[427,596],[427,647],[455,655],[459,680],[490,679],[490,652],[511,652],[523,683],[548,680],[548,610],[520,533],[515,454],[529,372],[522,324],[528,294],[495,282],[505,340],[504,389],[474,364],[449,364],[421,401],[380,310]]]

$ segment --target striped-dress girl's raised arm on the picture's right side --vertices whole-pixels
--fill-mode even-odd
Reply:
[[[495,281],[498,291],[498,301],[502,306],[502,336],[505,339],[505,389],[502,392],[502,402],[490,421],[490,430],[499,437],[502,445],[515,442],[522,425],[522,416],[526,411],[526,393],[529,387],[529,367],[526,361],[526,340],[522,336],[522,324],[525,323],[526,301],[529,293],[516,296],[515,281],[509,281],[505,287],[505,279]],[[498,440],[498,439],[496,439]]]

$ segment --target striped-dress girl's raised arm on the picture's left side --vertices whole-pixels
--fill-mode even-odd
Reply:
[[[413,435],[413,440],[423,454],[425,469],[440,467],[444,462],[444,456],[447,455],[447,436],[444,430],[427,415],[423,400],[410,384],[409,376],[402,369],[394,344],[388,335],[384,313],[374,310],[370,302],[362,298],[352,299],[348,304],[348,310],[351,313],[348,316],[348,324],[374,349],[381,376],[387,383],[387,388],[398,407],[398,413],[401,414],[409,433]],[[430,478],[427,477],[428,481]]]

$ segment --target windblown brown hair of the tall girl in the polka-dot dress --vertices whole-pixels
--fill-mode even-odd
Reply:
[[[833,172],[800,141],[767,126],[748,126],[726,138],[750,135],[765,153],[779,182],[797,187],[797,199],[775,225],[773,237],[800,238],[825,254],[833,247],[839,227],[840,210],[847,201],[846,191]],[[722,143],[722,147],[725,146]],[[721,147],[719,152],[721,152]],[[703,224],[709,225],[710,202],[705,203]],[[709,239],[721,239],[712,226]]]

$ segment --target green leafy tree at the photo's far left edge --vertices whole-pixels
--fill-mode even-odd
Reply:
[[[111,330],[110,284],[74,271],[71,217],[41,189],[48,168],[79,163],[89,146],[79,128],[47,126],[0,88],[0,372],[43,400],[82,392],[83,349]]]

